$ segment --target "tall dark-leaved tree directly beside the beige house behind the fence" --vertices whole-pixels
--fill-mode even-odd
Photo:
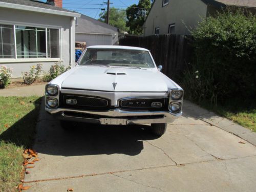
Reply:
[[[143,9],[138,9],[143,8]],[[126,9],[126,26],[130,28],[130,34],[140,35],[143,33],[145,16],[151,8],[151,0],[140,0],[138,5],[133,4]]]

